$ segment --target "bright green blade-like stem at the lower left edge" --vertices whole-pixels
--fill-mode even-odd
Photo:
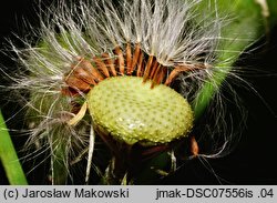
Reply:
[[[11,185],[27,185],[27,179],[0,111],[0,160]]]

